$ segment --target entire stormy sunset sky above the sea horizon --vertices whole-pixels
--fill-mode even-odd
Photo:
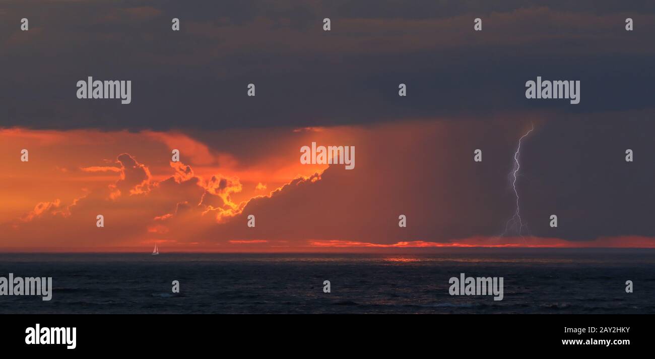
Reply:
[[[654,247],[654,35],[648,1],[3,2],[0,250]]]

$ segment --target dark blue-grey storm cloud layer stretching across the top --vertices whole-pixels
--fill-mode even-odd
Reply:
[[[647,1],[17,1],[0,14],[0,126],[193,130],[653,107]],[[538,75],[579,79],[581,103],[526,100]],[[131,80],[132,104],[78,100],[88,76]]]

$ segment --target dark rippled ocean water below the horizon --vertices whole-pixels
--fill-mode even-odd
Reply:
[[[655,250],[0,254],[9,273],[52,276],[52,300],[3,295],[0,313],[655,313]],[[449,295],[460,273],[504,277],[504,299]]]

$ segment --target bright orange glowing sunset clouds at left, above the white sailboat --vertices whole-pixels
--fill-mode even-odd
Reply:
[[[116,248],[154,240],[197,244],[195,235],[238,216],[251,198],[261,198],[254,191],[265,191],[263,183],[280,182],[271,180],[264,166],[238,166],[238,153],[210,149],[174,132],[9,129],[0,130],[0,138],[0,159],[10,168],[5,173],[14,174],[0,176],[0,194],[7,198],[0,228],[11,231],[0,248]],[[182,158],[195,164],[171,162],[167,147],[180,149]],[[29,149],[29,162],[12,155],[23,148]],[[253,163],[279,161],[267,149],[252,155],[263,158]],[[296,157],[286,160],[297,168],[294,175],[316,168],[299,166]],[[221,174],[226,172],[237,175]],[[102,176],[107,173],[112,175]],[[255,183],[244,194],[238,175],[246,173]],[[107,223],[101,230],[94,225],[98,214]],[[266,242],[261,241],[243,243]]]

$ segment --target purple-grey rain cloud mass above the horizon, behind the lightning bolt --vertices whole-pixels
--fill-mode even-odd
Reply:
[[[534,120],[521,145],[516,181],[522,235],[572,241],[655,236],[651,124],[598,116]],[[353,142],[355,170],[331,166],[315,183],[293,181],[271,198],[253,199],[210,233],[377,244],[476,236],[488,238],[487,244],[502,242],[516,210],[512,159],[518,138],[530,128],[529,120],[516,123],[449,121],[371,131]],[[473,161],[474,149],[482,149],[482,162]],[[625,161],[626,149],[633,150],[634,162]],[[264,229],[243,225],[250,214]],[[407,228],[398,227],[399,214],[407,216]],[[550,227],[553,214],[557,228]]]

